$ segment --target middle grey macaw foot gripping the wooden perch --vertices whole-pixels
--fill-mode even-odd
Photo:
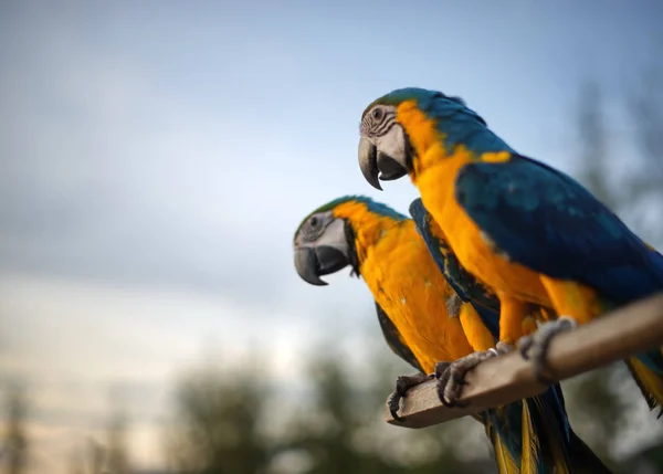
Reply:
[[[435,378],[438,379],[438,397],[444,407],[464,407],[465,403],[460,402],[461,393],[465,381],[465,373],[481,362],[492,359],[507,349],[496,347],[495,349],[480,350],[472,352],[469,356],[461,357],[453,362],[438,362],[435,366]]]

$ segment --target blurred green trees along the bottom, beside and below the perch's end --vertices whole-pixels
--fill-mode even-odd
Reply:
[[[372,333],[367,340],[379,335]],[[419,431],[387,425],[382,408],[394,375],[412,369],[386,346],[368,364],[376,371],[367,383],[339,354],[320,351],[308,371],[311,387],[286,390],[285,407],[266,403],[271,396],[254,376],[210,368],[192,372],[180,381],[177,418],[167,436],[171,468],[182,474],[494,472],[481,445],[483,428],[472,420]],[[283,414],[274,410],[288,417],[277,435],[270,436],[264,421]],[[462,431],[469,423],[476,424],[471,430],[475,439],[465,444]],[[467,450],[464,455],[461,446]]]

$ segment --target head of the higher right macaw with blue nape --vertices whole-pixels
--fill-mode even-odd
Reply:
[[[459,144],[481,148],[472,143],[485,140],[483,134],[477,137],[480,130],[490,131],[460,97],[418,87],[396,89],[373,101],[361,115],[359,167],[366,180],[381,190],[380,181],[411,173],[414,161],[433,144],[442,141],[446,150]]]

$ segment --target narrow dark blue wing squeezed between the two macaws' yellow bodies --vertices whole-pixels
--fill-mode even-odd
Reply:
[[[442,235],[442,230],[421,199],[412,201],[410,215],[449,285],[461,299],[474,306],[488,330],[497,337],[499,334],[499,301],[495,294],[460,264]]]

